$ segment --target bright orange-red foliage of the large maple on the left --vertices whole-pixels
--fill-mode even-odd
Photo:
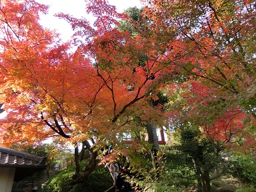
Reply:
[[[10,9],[15,10],[11,15]],[[71,53],[71,42],[61,44],[57,34],[39,25],[39,12],[46,10],[35,1],[2,2],[1,102],[7,117],[1,119],[1,145],[29,145],[49,137],[76,145],[128,133],[134,110],[146,110],[136,105],[160,86],[161,63],[147,59],[138,65],[154,51],[152,42],[118,31],[117,19],[128,16],[113,6],[88,2],[96,28],[59,15],[72,24],[75,36],[85,38],[73,42],[78,48]]]

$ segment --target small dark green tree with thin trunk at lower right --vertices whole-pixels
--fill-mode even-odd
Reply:
[[[224,148],[221,142],[202,137],[199,129],[193,129],[192,125],[188,124],[181,131],[181,145],[176,148],[181,153],[185,153],[187,158],[191,158],[189,166],[194,168],[197,175],[199,190],[210,191],[210,180],[213,179],[210,177],[210,172],[220,166],[223,161],[221,152]]]

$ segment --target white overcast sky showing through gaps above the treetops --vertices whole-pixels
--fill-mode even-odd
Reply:
[[[52,30],[56,29],[58,33],[61,34],[60,38],[67,41],[73,32],[70,25],[63,19],[54,17],[54,14],[63,12],[64,14],[70,14],[74,17],[80,18],[85,17],[90,19],[86,14],[85,1],[84,0],[36,0],[41,4],[49,5],[49,13],[47,15],[41,16],[41,25],[46,26]],[[109,0],[109,4],[117,7],[118,12],[123,12],[123,10],[128,7],[141,7],[141,2],[139,0]]]

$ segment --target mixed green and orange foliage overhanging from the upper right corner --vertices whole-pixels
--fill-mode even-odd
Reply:
[[[153,21],[156,41],[171,44],[165,61],[183,75],[215,87],[214,95],[225,92],[226,101],[236,99],[234,108],[255,116],[251,86],[255,1],[149,1],[147,5],[145,14]]]

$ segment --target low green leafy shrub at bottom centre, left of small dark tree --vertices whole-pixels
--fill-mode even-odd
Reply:
[[[141,170],[138,177],[128,179],[129,182],[148,192],[189,191],[188,186],[196,184],[194,170],[188,167],[190,159],[185,155],[170,148],[162,159],[159,169]],[[139,175],[143,175],[142,179]]]

